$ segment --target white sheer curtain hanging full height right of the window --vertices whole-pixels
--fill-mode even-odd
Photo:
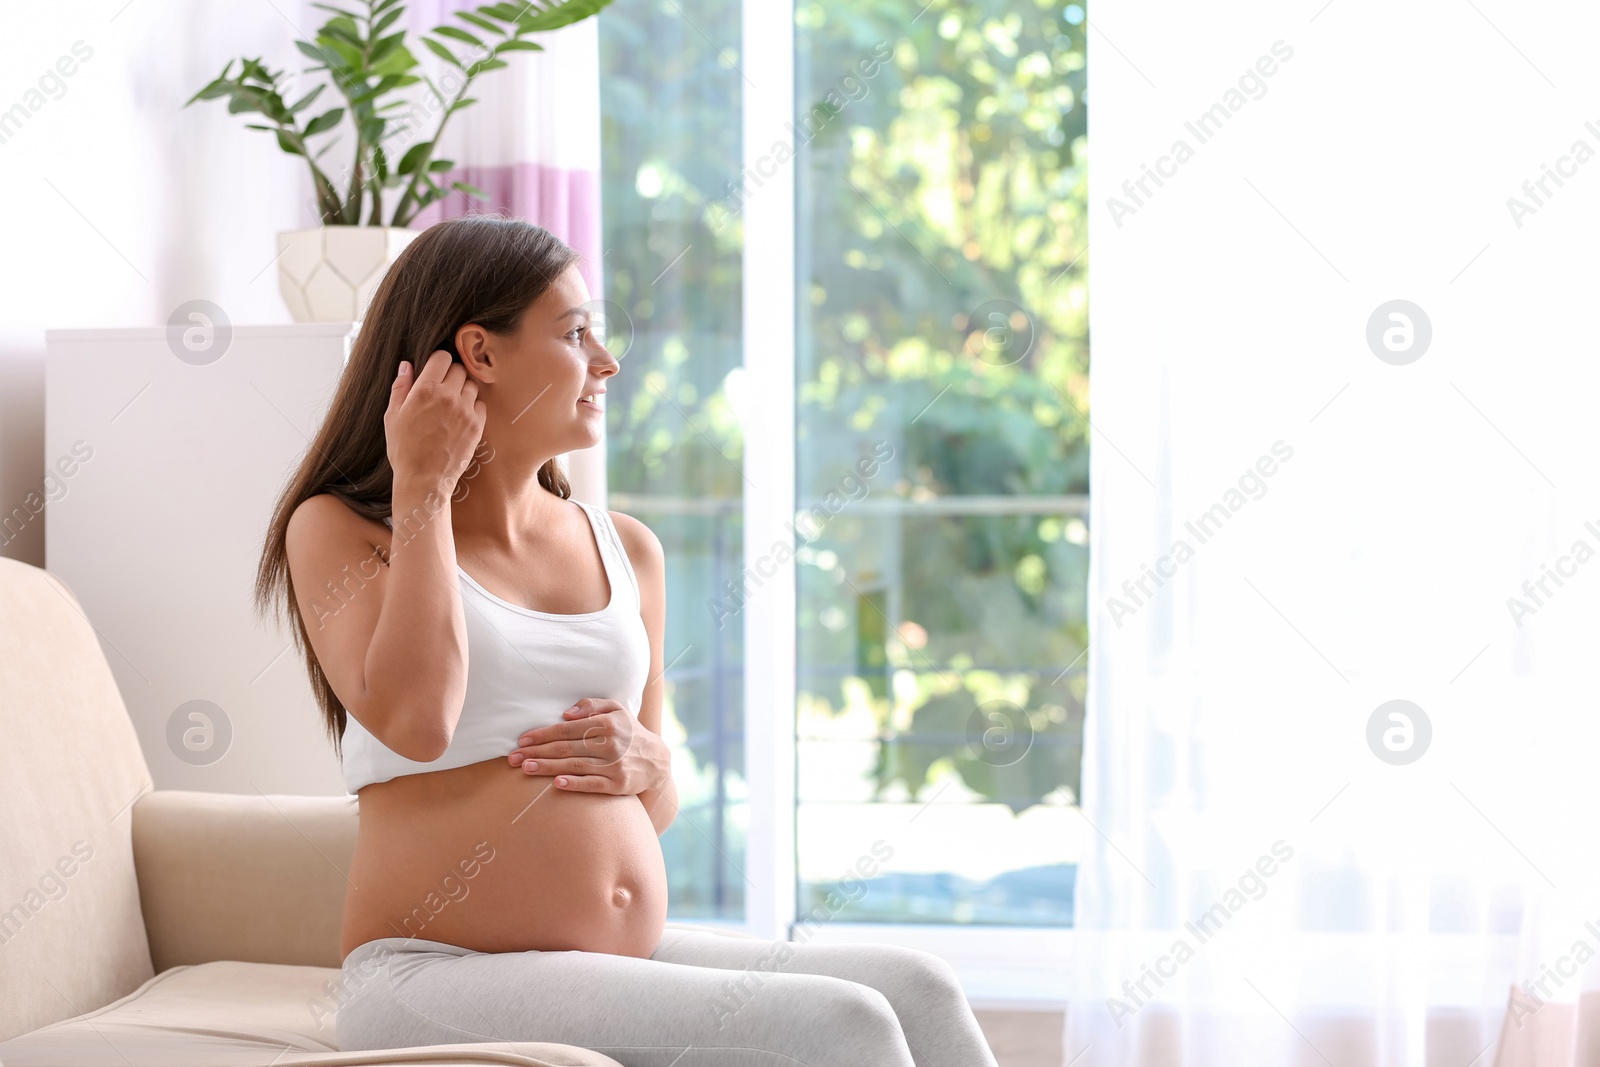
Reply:
[[[1600,174],[1506,208],[1597,138],[1470,8],[1314,11],[1134,2],[1091,58],[1066,1062],[1600,1064]],[[1501,29],[1592,77],[1576,27]],[[1277,38],[1270,91],[1118,226]],[[1504,99],[1456,114],[1485,69]],[[1366,336],[1395,298],[1430,323],[1408,365]]]

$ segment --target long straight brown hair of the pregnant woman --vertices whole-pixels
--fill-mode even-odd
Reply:
[[[389,517],[394,470],[384,411],[400,362],[419,371],[434,350],[453,346],[467,323],[515,333],[528,306],[578,259],[558,237],[531,222],[469,214],[422,230],[373,293],[322,429],[272,510],[254,592],[258,614],[277,608],[293,622],[294,645],[341,758],[346,710],[317,662],[294,598],[285,547],[290,515],[306,499],[331,493],[358,515]],[[573,494],[555,459],[539,467],[539,485],[562,499]]]

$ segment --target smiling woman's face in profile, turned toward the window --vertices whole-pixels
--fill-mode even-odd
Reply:
[[[600,443],[605,379],[621,370],[597,334],[589,286],[568,267],[512,334],[477,325],[456,331],[456,350],[480,384],[483,438],[496,454],[549,459]]]

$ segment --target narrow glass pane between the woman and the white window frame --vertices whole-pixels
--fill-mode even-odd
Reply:
[[[682,808],[662,837],[672,917],[744,917],[742,261],[707,206],[741,170],[739,0],[618,0],[600,18],[606,478],[667,555],[667,739]]]

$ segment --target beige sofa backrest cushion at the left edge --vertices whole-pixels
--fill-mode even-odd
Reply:
[[[150,771],[77,597],[0,558],[0,1040],[146,982],[133,801]]]

